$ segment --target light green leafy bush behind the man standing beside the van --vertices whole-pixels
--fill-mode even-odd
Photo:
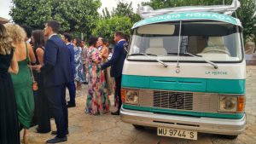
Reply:
[[[109,42],[113,42],[113,34],[117,31],[123,31],[126,35],[130,35],[132,23],[127,16],[113,16],[109,19],[98,20],[93,35],[104,37]]]

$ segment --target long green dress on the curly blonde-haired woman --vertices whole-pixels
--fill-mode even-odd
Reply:
[[[29,67],[28,51],[26,48],[26,59],[18,61],[19,73],[12,74],[15,87],[18,119],[22,127],[29,129],[34,112],[34,96],[32,92],[32,75]]]

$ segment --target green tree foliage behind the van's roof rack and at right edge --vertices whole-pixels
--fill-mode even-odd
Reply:
[[[164,9],[178,6],[193,6],[193,5],[221,5],[232,3],[232,0],[150,0],[143,5],[150,5],[153,9]],[[241,25],[244,27],[243,35],[247,40],[249,37],[254,37],[256,29],[256,0],[240,0],[241,7],[237,9],[237,17],[241,20]],[[236,17],[236,14],[233,16]]]

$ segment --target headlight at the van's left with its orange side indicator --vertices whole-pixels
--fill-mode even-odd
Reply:
[[[124,103],[137,105],[139,102],[139,90],[122,89],[122,100]]]

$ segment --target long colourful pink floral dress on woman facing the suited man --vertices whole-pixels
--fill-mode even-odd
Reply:
[[[102,62],[99,50],[95,47],[90,47],[86,59],[89,80],[85,112],[93,115],[109,112],[110,107],[104,71],[101,70]]]

